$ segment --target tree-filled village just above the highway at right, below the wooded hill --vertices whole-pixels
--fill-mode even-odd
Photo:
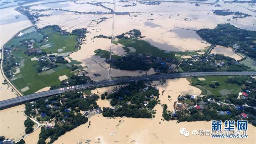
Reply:
[[[215,64],[215,60],[224,62],[222,65]],[[202,56],[198,61],[186,60],[180,64],[185,72],[214,72],[214,71],[247,71],[250,67],[239,64],[234,58],[223,54]]]

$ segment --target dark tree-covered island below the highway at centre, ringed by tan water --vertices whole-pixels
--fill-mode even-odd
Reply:
[[[148,87],[148,89],[144,89]],[[143,90],[144,89],[144,90]],[[156,98],[150,98],[151,95]],[[144,82],[132,82],[128,86],[121,87],[117,92],[108,94],[107,99],[111,99],[111,106],[120,106],[116,110],[103,108],[103,116],[127,116],[132,118],[151,118],[151,110],[157,104],[159,98],[158,90],[151,86],[146,86]],[[144,106],[147,104],[147,106]]]

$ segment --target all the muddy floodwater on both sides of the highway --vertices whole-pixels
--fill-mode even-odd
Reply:
[[[52,2],[44,0],[44,2]],[[113,2],[107,0],[106,2]],[[40,2],[36,2],[40,3]],[[119,4],[120,3],[120,4]],[[33,3],[35,4],[35,3]],[[210,44],[205,43],[194,30],[200,28],[214,28],[217,24],[230,22],[231,24],[244,28],[246,30],[256,30],[255,13],[248,10],[248,4],[229,4],[219,2],[222,7],[215,7],[214,4],[200,4],[195,6],[190,3],[174,3],[161,2],[160,5],[137,4],[134,7],[122,7],[124,3],[117,2],[116,12],[132,12],[130,15],[116,15],[114,20],[114,36],[127,32],[132,29],[139,29],[142,32],[142,40],[150,42],[150,44],[168,51],[183,50],[201,50]],[[29,4],[27,4],[29,5]],[[55,4],[40,4],[32,8],[63,8],[66,10],[76,10],[79,12],[90,11],[106,11],[102,7],[87,6],[88,4],[74,4],[74,2],[60,2]],[[113,4],[104,4],[113,8]],[[12,8],[0,9],[0,45],[6,43],[12,36],[20,30],[32,26],[26,16],[18,13]],[[251,17],[232,19],[232,16],[217,16],[212,13],[215,9],[230,9],[231,11],[240,11],[251,14]],[[103,80],[108,76],[109,65],[104,62],[104,58],[94,56],[94,50],[98,48],[108,50],[110,48],[110,39],[94,38],[99,34],[111,36],[112,32],[112,15],[95,15],[95,14],[74,14],[64,11],[44,11],[40,14],[53,14],[52,16],[40,17],[36,24],[39,28],[47,25],[57,24],[63,30],[71,32],[77,28],[88,28],[90,33],[82,44],[81,50],[70,54],[70,58],[82,62],[84,69],[89,72],[87,74],[92,80]],[[15,18],[15,16],[19,16]],[[108,19],[97,24],[102,17]],[[227,21],[230,19],[230,21]],[[218,51],[219,50],[219,51]],[[230,50],[221,50],[220,47],[214,48],[213,52],[221,52],[224,55],[230,55],[234,58],[234,54]],[[126,54],[122,45],[112,44],[112,52],[117,55]],[[93,74],[99,73],[101,76],[95,77]],[[142,74],[154,74],[151,68],[148,72]],[[138,76],[138,71],[111,70],[112,77],[116,76]],[[1,74],[0,74],[1,75]],[[4,78],[2,75],[0,84],[0,100],[6,100],[16,97],[8,85],[3,85]],[[157,82],[155,82],[157,83]],[[97,89],[99,95],[104,91],[112,91],[113,87],[107,89]],[[200,94],[200,90],[189,85],[186,79],[166,80],[166,83],[158,86],[160,91],[161,104],[167,104],[168,110],[173,110],[173,103],[180,94]],[[48,87],[39,91],[48,90]],[[39,92],[38,91],[38,92]],[[163,92],[164,91],[164,92]],[[93,91],[95,92],[95,91]],[[163,92],[163,95],[162,95]],[[171,98],[168,98],[168,95]],[[101,107],[110,106],[107,100],[98,100]],[[0,111],[0,135],[6,138],[18,140],[24,135],[24,116],[22,110],[24,105],[15,106]],[[184,137],[179,134],[180,128],[187,128],[192,133],[193,129],[209,129],[210,122],[182,122],[177,124],[176,121],[162,121],[162,106],[157,105],[156,118],[153,119],[135,119],[135,118],[104,118],[102,115],[96,115],[90,118],[92,125],[88,128],[88,124],[79,126],[78,128],[61,136],[56,143],[78,143],[91,140],[91,143],[256,143],[254,136],[256,128],[249,124],[249,138],[247,139],[216,139],[212,140],[207,136],[189,136]],[[18,111],[18,112],[17,112]],[[121,120],[121,122],[119,122]],[[26,143],[36,143],[40,129],[36,130],[25,138]]]

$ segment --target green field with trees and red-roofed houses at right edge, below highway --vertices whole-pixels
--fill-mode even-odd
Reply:
[[[202,90],[202,95],[207,95],[215,100],[228,102],[230,104],[248,104],[256,106],[256,80],[250,76],[206,76],[206,80],[190,78],[192,86]],[[241,96],[238,99],[238,93],[244,92],[248,96]]]

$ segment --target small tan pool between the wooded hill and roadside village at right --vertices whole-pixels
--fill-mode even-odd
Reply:
[[[215,46],[214,49],[211,51],[212,54],[223,54],[224,56],[229,56],[236,60],[241,60],[242,57],[236,54],[232,48],[225,47],[225,46]]]

